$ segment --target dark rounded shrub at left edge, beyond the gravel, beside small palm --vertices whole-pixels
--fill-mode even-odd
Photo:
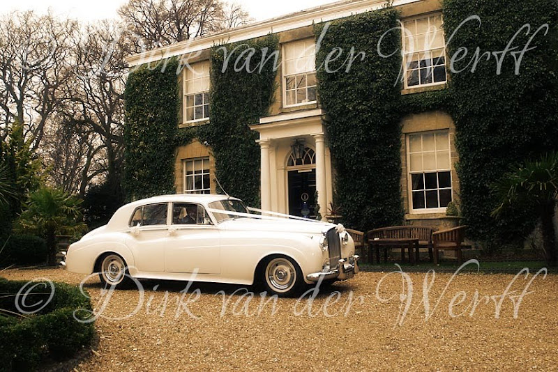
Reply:
[[[0,240],[0,247],[6,240]],[[7,265],[37,265],[45,263],[47,242],[35,235],[12,235],[0,256],[0,263]]]

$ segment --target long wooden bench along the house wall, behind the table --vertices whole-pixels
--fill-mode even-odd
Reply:
[[[368,238],[368,251],[369,255],[372,254],[372,245],[371,242],[374,240],[401,240],[401,256],[402,259],[405,256],[404,249],[407,247],[408,240],[418,239],[418,244],[416,245],[415,249],[415,260],[416,262],[419,261],[419,249],[420,248],[428,248],[428,256],[430,257],[430,261],[433,258],[432,252],[432,233],[436,231],[435,227],[432,226],[391,226],[391,227],[384,227],[384,228],[376,228],[375,230],[368,231],[367,238]],[[391,246],[395,246],[393,243]],[[384,256],[387,256],[387,247],[384,253]],[[370,256],[370,262],[372,262],[372,257]],[[379,249],[376,249],[376,258],[379,263]],[[412,262],[412,258],[409,256],[409,261]]]

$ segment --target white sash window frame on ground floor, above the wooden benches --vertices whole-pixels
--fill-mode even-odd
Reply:
[[[448,133],[448,153],[449,153],[449,169],[436,169],[435,171],[420,171],[420,172],[414,172],[411,171],[411,146],[410,146],[410,138],[411,136],[415,136],[415,135],[421,135],[421,141],[422,141],[422,136],[423,134],[435,134],[435,133],[439,133],[439,132],[447,132]],[[435,142],[436,144],[436,142]],[[425,208],[418,208],[418,209],[414,209],[413,208],[413,178],[412,175],[413,174],[425,174],[425,173],[439,173],[439,172],[449,172],[449,176],[450,176],[450,187],[449,189],[451,190],[451,201],[453,201],[453,174],[452,174],[452,164],[451,164],[451,135],[449,133],[449,130],[431,130],[428,132],[415,132],[415,133],[408,133],[405,135],[405,146],[407,146],[407,148],[405,149],[405,152],[407,153],[407,195],[409,197],[409,213],[413,214],[413,215],[426,215],[426,214],[432,214],[432,213],[445,213],[447,207],[441,207],[441,208],[426,208],[426,201],[424,202],[424,206]],[[437,150],[434,151],[435,153],[437,152]],[[428,153],[428,151],[421,151],[421,153]],[[414,154],[414,153],[413,153]],[[437,180],[437,182],[439,182]],[[426,185],[424,185],[425,187],[425,192],[426,191],[433,191],[434,189],[426,189]],[[441,189],[448,189],[447,187],[442,187]],[[441,190],[439,188],[436,189],[438,191],[438,205],[439,205],[439,190]]]

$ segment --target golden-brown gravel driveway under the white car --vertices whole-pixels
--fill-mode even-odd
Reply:
[[[532,274],[515,281],[510,274],[437,274],[424,293],[425,274],[387,274],[361,272],[324,287],[311,307],[308,296],[273,307],[259,294],[248,301],[238,286],[194,284],[184,294],[186,283],[170,281],[142,281],[143,300],[138,290],[109,296],[91,279],[85,288],[93,305],[104,306],[96,321],[100,343],[76,370],[558,369],[558,276],[541,274],[527,287]],[[0,275],[84,279],[63,270]],[[190,297],[196,289],[201,294]]]

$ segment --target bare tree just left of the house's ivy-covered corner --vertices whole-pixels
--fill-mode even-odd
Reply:
[[[103,166],[105,177],[119,176],[123,153],[125,42],[119,24],[101,22],[84,27],[73,45],[75,68],[65,86],[63,115],[66,123],[80,128],[75,130],[77,133],[97,139],[87,149],[80,194],[85,192],[84,185],[98,176],[100,169],[88,173],[93,162]],[[102,160],[91,158],[101,155]]]

